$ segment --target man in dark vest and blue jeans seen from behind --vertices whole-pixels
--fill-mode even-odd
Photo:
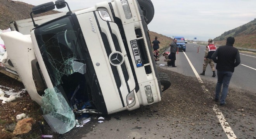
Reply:
[[[234,37],[228,37],[225,46],[220,46],[211,56],[216,64],[218,82],[215,91],[215,101],[220,99],[220,105],[225,105],[225,99],[228,95],[228,85],[233,75],[235,67],[240,64],[240,54],[237,48],[233,47]],[[220,91],[222,86],[222,93]]]

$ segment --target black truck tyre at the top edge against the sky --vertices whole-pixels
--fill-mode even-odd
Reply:
[[[144,17],[146,18],[145,22],[149,24],[155,14],[153,3],[151,2],[151,0],[137,0],[137,1],[140,5],[140,8],[142,10]]]

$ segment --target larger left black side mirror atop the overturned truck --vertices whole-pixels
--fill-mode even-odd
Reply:
[[[54,2],[47,2],[47,3],[43,3],[41,5],[37,5],[37,6],[33,7],[32,12],[33,12],[33,14],[36,15],[36,14],[42,14],[44,12],[48,12],[53,9],[55,9]]]

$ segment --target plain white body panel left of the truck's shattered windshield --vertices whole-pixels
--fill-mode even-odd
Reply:
[[[38,104],[42,104],[42,97],[38,95],[32,75],[32,60],[35,59],[34,47],[30,37],[17,31],[10,31],[1,34],[5,41],[6,49],[12,64],[17,70],[23,85],[30,97]]]

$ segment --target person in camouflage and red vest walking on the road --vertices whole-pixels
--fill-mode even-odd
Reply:
[[[211,56],[216,51],[216,46],[213,44],[213,39],[208,39],[208,46],[206,46],[206,51],[204,54],[204,64],[203,64],[203,72],[200,75],[205,75],[206,67],[209,64],[211,66],[211,70],[213,71],[213,76],[216,76],[214,62],[211,59]]]

